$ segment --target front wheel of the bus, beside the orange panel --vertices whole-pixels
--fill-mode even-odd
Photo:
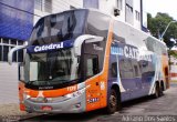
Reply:
[[[106,109],[108,114],[112,114],[117,110],[117,94],[114,89],[111,90],[111,95],[108,98],[108,103]]]

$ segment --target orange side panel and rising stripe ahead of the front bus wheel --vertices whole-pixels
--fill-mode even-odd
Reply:
[[[108,64],[110,64],[110,52],[111,52],[111,44],[113,41],[113,23],[111,22],[111,27],[110,27],[110,31],[108,31],[108,37],[107,37],[107,41],[106,41],[106,48],[105,48],[105,55],[104,55],[104,64],[103,64],[103,70],[100,74],[97,74],[97,78],[95,77],[94,79],[88,79],[86,81],[86,87],[91,85],[87,90],[86,90],[86,101],[90,100],[90,92],[94,89],[95,84],[93,84],[95,81],[94,80],[98,80],[98,89],[100,89],[100,93],[96,92],[97,94],[100,94],[100,100],[98,103],[86,103],[86,111],[91,111],[91,110],[95,110],[95,109],[101,109],[101,108],[105,108],[107,105],[107,81],[108,81]],[[93,87],[93,88],[92,88]],[[96,99],[95,99],[96,100]]]

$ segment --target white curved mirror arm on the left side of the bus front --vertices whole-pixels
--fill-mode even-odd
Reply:
[[[10,52],[8,53],[8,62],[9,64],[12,64],[12,58],[13,58],[13,53],[18,50],[21,50],[21,49],[25,49],[27,45],[18,45],[18,47],[14,47],[13,49],[10,50]]]

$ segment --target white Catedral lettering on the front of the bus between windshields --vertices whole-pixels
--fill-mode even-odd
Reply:
[[[49,45],[42,45],[42,47],[37,45],[34,48],[34,52],[42,52],[42,51],[48,51],[48,50],[56,50],[56,49],[62,49],[62,48],[63,48],[63,42],[58,43],[58,44],[51,43]]]

